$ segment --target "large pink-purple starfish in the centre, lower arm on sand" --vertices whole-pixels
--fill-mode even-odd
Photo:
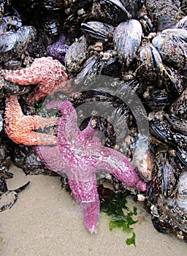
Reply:
[[[91,233],[96,233],[99,195],[95,173],[105,170],[126,186],[141,191],[145,191],[146,184],[131,167],[129,159],[115,149],[102,146],[91,121],[83,131],[79,129],[77,113],[71,102],[53,101],[47,108],[58,108],[62,113],[57,145],[37,146],[35,149],[50,170],[66,173],[75,199],[83,206],[85,226]]]

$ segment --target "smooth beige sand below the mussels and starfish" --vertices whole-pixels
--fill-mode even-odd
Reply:
[[[137,246],[127,246],[129,236],[121,230],[110,232],[105,214],[100,214],[98,233],[88,233],[80,205],[61,188],[59,177],[26,176],[15,166],[10,171],[14,178],[7,180],[9,189],[31,183],[11,209],[0,213],[1,256],[186,255],[183,241],[154,229],[142,203],[129,198],[129,207],[137,206],[138,222],[133,225]]]

